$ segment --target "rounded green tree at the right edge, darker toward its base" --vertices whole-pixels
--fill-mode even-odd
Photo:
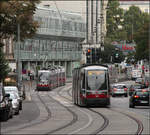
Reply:
[[[149,15],[131,6],[124,14],[128,41],[136,42],[135,60],[148,59]]]

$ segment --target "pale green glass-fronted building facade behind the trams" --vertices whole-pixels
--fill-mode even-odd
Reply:
[[[65,67],[68,77],[72,76],[72,69],[80,65],[81,43],[85,39],[85,23],[81,15],[37,7],[34,19],[40,27],[33,38],[20,43],[19,54],[18,44],[11,43],[13,62],[19,57],[22,73],[36,74],[42,67],[60,65]],[[6,48],[7,44],[5,53],[8,52]]]

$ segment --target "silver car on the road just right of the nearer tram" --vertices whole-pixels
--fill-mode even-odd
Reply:
[[[128,88],[125,84],[114,84],[112,86],[112,97],[116,95],[124,95],[128,97]]]

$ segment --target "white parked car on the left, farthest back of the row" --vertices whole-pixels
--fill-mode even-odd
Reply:
[[[19,91],[16,86],[4,86],[4,90],[6,93],[14,92],[17,94],[19,101],[19,109],[22,110],[22,97],[19,96]]]

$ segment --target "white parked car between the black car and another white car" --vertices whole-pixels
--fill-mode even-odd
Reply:
[[[19,100],[18,95],[14,92],[10,92],[10,99],[12,99],[13,114],[19,114]]]

